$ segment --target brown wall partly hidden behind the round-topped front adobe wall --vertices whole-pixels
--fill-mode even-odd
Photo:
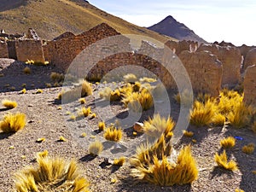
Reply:
[[[233,87],[241,81],[241,52],[236,47],[201,44],[197,51],[208,50],[223,64],[222,86]]]

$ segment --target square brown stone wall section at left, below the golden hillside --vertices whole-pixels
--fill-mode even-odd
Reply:
[[[44,63],[43,42],[41,40],[25,39],[15,41],[18,61],[32,60]]]

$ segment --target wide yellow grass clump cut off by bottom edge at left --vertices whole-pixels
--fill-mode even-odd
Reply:
[[[15,173],[17,192],[88,192],[89,183],[80,175],[76,161],[48,156],[37,158],[38,166],[26,166]]]

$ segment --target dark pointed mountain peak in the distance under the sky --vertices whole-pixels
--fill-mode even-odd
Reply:
[[[183,23],[178,22],[172,16],[167,16],[166,19],[161,20],[154,26],[149,26],[148,29],[172,38],[177,38],[178,40],[193,40],[206,43],[203,38],[200,38],[195,34],[195,32],[190,30],[189,27],[185,26]]]

